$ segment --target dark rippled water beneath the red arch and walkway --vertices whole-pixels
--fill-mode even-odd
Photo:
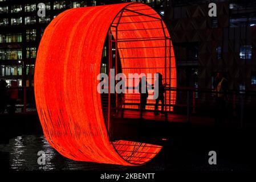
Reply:
[[[212,148],[214,146],[210,146]],[[216,148],[216,147],[215,147]],[[84,171],[247,171],[251,166],[233,157],[218,155],[217,165],[208,163],[208,147],[166,146],[151,162],[139,167],[124,167],[111,164],[78,162],[64,158],[52,148],[42,135],[22,135],[10,139],[9,144],[0,144],[0,159],[9,169],[31,170],[84,170]],[[46,154],[46,164],[39,165],[38,151]],[[227,151],[229,153],[229,151]],[[243,154],[242,154],[243,155]]]

